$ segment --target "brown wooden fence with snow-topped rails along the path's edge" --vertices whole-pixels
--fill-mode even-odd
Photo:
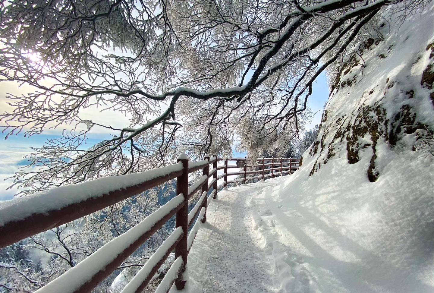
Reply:
[[[217,167],[218,161],[224,161],[224,165]],[[228,173],[228,168],[240,168],[240,166],[228,165],[228,161],[237,161],[237,165],[241,161],[243,171]],[[246,183],[247,180],[253,178],[265,180],[270,176],[273,178],[276,175],[292,174],[299,168],[299,159],[262,158],[258,161],[261,164],[246,165],[244,158],[225,160],[213,156],[210,159],[206,155],[202,161],[189,162],[187,156],[183,154],[178,158],[177,164],[167,167],[99,178],[81,184],[53,188],[32,196],[3,201],[0,203],[0,235],[2,235],[0,248],[99,211],[176,178],[177,196],[135,227],[111,240],[36,292],[91,292],[175,214],[175,230],[164,240],[122,292],[142,292],[172,250],[175,250],[176,260],[158,286],[157,292],[168,292],[173,283],[181,290],[186,282],[184,277],[187,274],[184,274],[184,271],[188,252],[200,227],[199,223],[206,221],[207,206],[212,198],[217,197],[218,189],[233,182]],[[271,163],[265,164],[265,161],[271,161]],[[210,164],[212,164],[211,171]],[[265,166],[271,166],[271,168],[265,169]],[[260,169],[247,171],[247,168]],[[202,177],[189,186],[188,174],[201,169]],[[224,173],[217,176],[217,171],[221,169],[224,169]],[[264,174],[266,171],[271,171],[271,173]],[[261,173],[261,175],[247,177],[247,174],[255,173]],[[227,180],[227,176],[235,174],[244,174],[244,178]],[[212,180],[208,184],[210,178]],[[217,187],[217,181],[220,179],[223,179],[223,183]],[[210,190],[212,192],[207,197]],[[188,200],[198,191],[201,191],[201,197],[188,213]],[[188,234],[188,228],[191,227],[196,217],[193,229]]]

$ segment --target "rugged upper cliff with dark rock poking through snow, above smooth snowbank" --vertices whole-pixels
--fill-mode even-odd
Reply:
[[[309,151],[315,158],[310,176],[338,157],[364,164],[368,180],[375,182],[391,155],[411,150],[432,156],[433,19],[432,9],[404,23],[389,17],[376,39],[355,48],[331,82],[319,135]]]

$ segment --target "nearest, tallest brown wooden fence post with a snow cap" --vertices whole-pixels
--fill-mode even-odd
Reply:
[[[176,227],[182,227],[182,238],[175,247],[175,259],[181,256],[184,262],[184,267],[178,274],[175,280],[175,286],[178,290],[184,289],[185,282],[183,274],[187,266],[187,238],[188,238],[188,158],[187,155],[181,154],[177,162],[182,163],[183,172],[176,178],[176,194],[184,196],[184,205],[176,213]]]

